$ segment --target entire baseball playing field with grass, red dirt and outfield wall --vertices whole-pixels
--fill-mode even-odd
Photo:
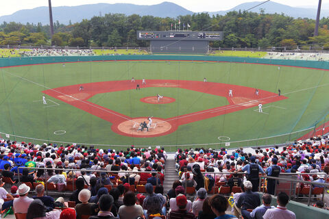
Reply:
[[[282,144],[326,127],[328,114],[326,62],[186,55],[17,57],[2,59],[0,71],[0,131],[17,140],[162,145],[174,146],[173,151],[175,146]],[[149,117],[149,130],[138,130]]]

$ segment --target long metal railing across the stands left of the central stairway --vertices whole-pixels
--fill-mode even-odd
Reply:
[[[40,167],[25,167],[25,166],[19,166],[18,167],[18,170],[17,170],[17,172],[19,172],[19,170],[20,169],[28,169],[28,170],[53,170],[53,171],[55,171],[55,170],[62,170],[63,172],[70,172],[70,171],[72,171],[73,172],[73,174],[72,174],[72,177],[71,177],[71,179],[72,179],[72,190],[74,191],[75,190],[75,172],[106,172],[106,173],[108,173],[108,174],[118,174],[119,172],[124,172],[125,174],[129,174],[130,175],[130,173],[147,173],[147,174],[152,174],[152,173],[154,173],[154,171],[123,171],[123,170],[119,170],[119,171],[112,171],[112,170],[86,170],[86,169],[65,169],[65,168],[40,168]],[[34,171],[33,171],[34,172]],[[43,172],[43,177],[44,177],[44,179],[45,179],[45,192],[46,192],[46,194],[48,195],[49,194],[49,190],[48,190],[48,186],[47,186],[47,181],[50,179],[50,177],[49,177],[49,179],[46,179],[46,177],[45,177],[45,174],[46,174],[46,172],[44,171]],[[21,183],[21,179],[20,179],[20,174],[18,175],[18,180],[19,180],[19,183]],[[68,177],[69,178],[69,177]],[[158,179],[159,179],[159,177],[158,177],[158,172],[156,172],[156,185],[158,185]],[[130,176],[128,176],[127,177],[127,180],[128,180],[128,183],[130,184]],[[86,181],[85,181],[85,183],[86,183]],[[86,184],[85,184],[86,185]],[[89,186],[89,185],[88,185]],[[72,191],[64,191],[64,192],[72,192]],[[64,192],[60,192],[60,194],[63,194]],[[53,193],[58,193],[58,192],[53,192]]]

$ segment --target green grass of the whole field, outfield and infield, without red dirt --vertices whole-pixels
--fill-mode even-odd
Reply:
[[[230,83],[277,92],[289,99],[233,112],[215,118],[182,125],[178,130],[156,138],[130,138],[112,132],[111,125],[83,110],[51,96],[42,104],[42,90],[98,81],[141,79],[175,79]],[[230,146],[274,144],[295,140],[311,127],[322,123],[328,114],[329,74],[326,70],[281,66],[218,62],[82,62],[46,64],[0,69],[0,131],[15,136],[58,142],[84,142],[106,145],[180,145],[206,144],[218,148],[226,141]],[[157,93],[176,99],[167,105],[150,105],[139,101]],[[53,102],[52,102],[53,101]],[[89,99],[98,105],[128,116],[171,117],[226,105],[226,98],[180,88],[142,88],[106,94]],[[310,129],[301,131],[304,129]],[[56,135],[56,131],[66,133]],[[299,133],[291,133],[300,131]],[[55,133],[54,133],[55,132]],[[3,135],[1,135],[3,136]],[[230,140],[218,139],[227,136]],[[278,136],[276,138],[267,138]],[[4,136],[3,136],[4,137]],[[262,139],[266,138],[266,139]],[[12,138],[11,138],[12,139]],[[31,141],[25,138],[17,140]],[[227,139],[227,138],[226,138]],[[215,145],[212,145],[215,144]],[[171,148],[175,150],[175,146]]]

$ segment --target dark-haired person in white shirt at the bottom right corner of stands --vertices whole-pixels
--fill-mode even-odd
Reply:
[[[295,213],[289,211],[286,205],[289,203],[289,196],[280,192],[277,199],[278,206],[273,209],[268,209],[263,215],[263,219],[296,219]]]

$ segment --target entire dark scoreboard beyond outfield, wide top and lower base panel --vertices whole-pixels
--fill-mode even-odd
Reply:
[[[219,31],[137,31],[137,40],[149,40],[153,53],[205,54],[209,41],[223,40]]]

